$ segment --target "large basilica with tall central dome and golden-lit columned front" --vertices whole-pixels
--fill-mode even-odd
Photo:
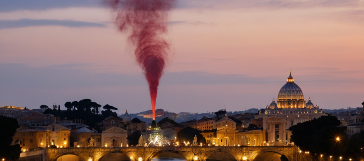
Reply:
[[[259,110],[259,115],[254,116],[252,123],[263,128],[265,141],[289,142],[288,128],[324,115],[327,114],[319,106],[314,106],[310,98],[305,102],[303,92],[294,83],[290,72],[287,83],[278,93],[277,103],[273,99],[269,106]]]

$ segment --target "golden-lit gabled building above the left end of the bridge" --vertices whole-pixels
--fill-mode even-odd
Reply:
[[[43,128],[49,131],[48,145],[55,145],[59,147],[70,147],[71,129],[53,123]]]

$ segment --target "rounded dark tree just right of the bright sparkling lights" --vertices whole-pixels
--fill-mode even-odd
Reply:
[[[185,127],[177,132],[177,140],[180,142],[184,141],[190,141],[190,143],[193,142],[193,138],[197,136],[197,142],[206,144],[206,139],[203,137],[202,134],[200,134],[200,130],[197,130],[192,127]]]

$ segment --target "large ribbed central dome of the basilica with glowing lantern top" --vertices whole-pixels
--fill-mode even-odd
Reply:
[[[278,93],[277,106],[278,108],[304,108],[306,100],[303,97],[301,88],[294,83],[293,77],[290,75],[287,78],[287,83],[281,88]]]

